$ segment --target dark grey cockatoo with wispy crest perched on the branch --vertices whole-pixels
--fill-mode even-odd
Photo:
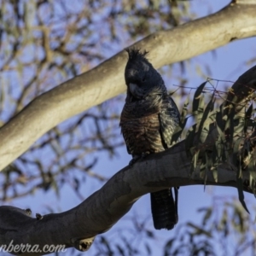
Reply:
[[[166,85],[146,58],[148,52],[127,49],[129,59],[125,67],[127,96],[121,113],[120,126],[130,164],[148,154],[171,147],[172,134],[179,124],[179,112]],[[156,230],[172,230],[177,224],[177,189],[151,193],[151,209]]]

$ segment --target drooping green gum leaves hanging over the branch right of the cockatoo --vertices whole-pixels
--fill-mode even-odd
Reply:
[[[253,103],[248,104],[253,94],[247,96],[239,108],[236,108],[236,102],[223,102],[216,109],[214,108],[216,89],[213,88],[212,92],[207,92],[207,83],[209,81],[195,90],[192,102],[195,124],[191,125],[186,134],[185,146],[192,157],[190,174],[199,171],[206,185],[207,176],[212,172],[212,176],[218,182],[218,167],[228,164],[230,169],[236,171],[239,201],[248,212],[243,195],[244,184],[249,183],[248,189],[253,190],[254,194],[256,189],[254,136],[256,126],[253,119]],[[206,94],[211,95],[207,103]],[[235,96],[234,101],[236,99]],[[186,113],[188,105],[189,100],[184,104],[183,113]],[[179,135],[183,132],[186,123],[187,119],[183,117]],[[218,136],[213,137],[216,130]],[[212,143],[213,139],[214,143]],[[245,181],[242,177],[242,173],[246,171],[250,172],[250,181]]]

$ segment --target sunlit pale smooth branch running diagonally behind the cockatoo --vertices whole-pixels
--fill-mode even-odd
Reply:
[[[156,32],[137,44],[154,67],[183,61],[239,38],[256,35],[256,4],[235,4],[215,15]],[[38,96],[0,130],[0,170],[65,119],[125,91],[124,51],[100,66]]]

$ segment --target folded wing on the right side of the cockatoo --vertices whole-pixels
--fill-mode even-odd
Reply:
[[[172,142],[172,134],[179,123],[179,112],[175,102],[171,96],[163,99],[162,108],[159,113],[160,120],[160,136],[164,148],[170,148]]]

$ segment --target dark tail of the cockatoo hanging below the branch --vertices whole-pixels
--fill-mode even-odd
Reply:
[[[177,189],[174,188],[175,201],[172,196],[172,188],[150,194],[151,211],[156,230],[172,230],[177,224]]]

